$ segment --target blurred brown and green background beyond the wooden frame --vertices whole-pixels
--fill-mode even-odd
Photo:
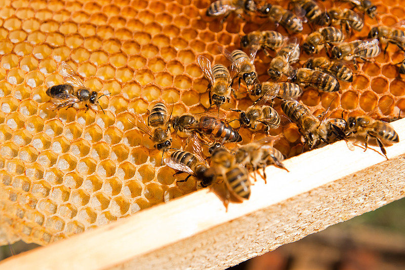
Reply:
[[[405,199],[333,225],[228,270],[403,270]],[[17,242],[15,254],[37,247]],[[0,248],[0,259],[11,256]]]

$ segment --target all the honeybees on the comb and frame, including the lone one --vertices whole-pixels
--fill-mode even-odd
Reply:
[[[358,12],[371,18],[377,14],[376,7],[369,0],[339,1],[352,4]],[[219,0],[209,6],[206,14],[223,16],[223,22],[231,13],[239,17],[255,13],[256,16],[269,18],[292,34],[301,32],[303,23],[310,23],[313,32],[303,42],[302,50],[313,55],[326,49],[328,57],[312,57],[302,67],[297,68],[295,64],[301,54],[298,38],[286,37],[277,31],[254,31],[241,37],[241,48],[248,49],[249,54],[242,50],[229,52],[219,47],[220,52],[230,61],[229,68],[222,64],[212,65],[208,58],[198,56],[197,62],[210,83],[210,107],[206,112],[172,115],[170,106],[159,102],[151,108],[147,123],[141,115],[130,119],[134,126],[149,135],[156,149],[163,151],[162,163],[164,161],[167,166],[189,174],[183,181],[194,176],[200,186],[207,187],[222,178],[227,190],[226,206],[231,195],[238,201],[249,199],[249,171],[264,169],[268,165],[288,171],[282,164],[282,153],[270,145],[273,140],[271,137],[236,147],[242,138],[238,130],[226,121],[225,114],[220,112],[220,107],[230,101],[231,95],[237,99],[232,88],[235,79],[238,86],[246,84],[250,94],[257,97],[246,110],[232,109],[239,112],[240,127],[255,130],[258,129],[258,124],[261,124],[259,126],[263,126],[269,135],[271,129],[286,127],[293,122],[304,138],[304,145],[307,144],[309,149],[337,140],[347,140],[353,135],[362,137],[367,149],[369,138],[375,138],[386,158],[383,141],[399,141],[390,124],[373,118],[379,107],[367,115],[350,117],[347,120],[343,118],[343,113],[342,118],[329,118],[329,108],[319,117],[315,117],[297,98],[302,94],[302,88],[306,87],[322,92],[340,91],[339,81],[353,81],[349,62],[353,62],[352,66],[356,68],[358,59],[371,61],[371,58],[380,54],[380,44],[388,46],[392,43],[405,52],[405,31],[399,29],[398,25],[377,26],[371,29],[368,40],[345,42],[351,31],[362,29],[364,21],[360,13],[339,7],[322,10],[313,0],[291,0],[289,6],[295,8],[296,14],[277,5],[252,0]],[[267,56],[271,55],[269,51],[276,52],[268,68],[270,81],[267,82],[258,81],[254,65],[259,49],[263,49]],[[403,66],[400,68],[401,72],[405,72],[405,64],[400,64]],[[65,62],[62,62],[61,73],[66,84],[47,90],[47,94],[52,98],[51,109],[72,106],[77,102],[84,102],[87,109],[91,108],[91,105],[99,105],[98,98],[101,96],[85,88]],[[75,91],[72,86],[78,90]],[[281,109],[286,117],[279,115],[272,107],[275,98],[281,100]],[[216,106],[218,111],[209,111],[212,106]],[[191,151],[172,147],[172,129],[178,136],[186,138],[186,144],[192,145]],[[225,147],[225,143],[233,143],[235,147]],[[209,146],[210,165],[206,162],[201,144]],[[167,151],[170,151],[170,155],[165,155]],[[266,179],[265,174],[263,178]]]

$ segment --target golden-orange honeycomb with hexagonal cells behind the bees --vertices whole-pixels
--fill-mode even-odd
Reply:
[[[401,0],[374,1],[379,20],[391,25],[405,16]],[[173,114],[202,112],[209,106],[207,86],[196,62],[200,54],[229,65],[217,46],[239,48],[240,35],[275,30],[255,16],[240,20],[205,15],[209,0],[0,0],[0,227],[1,244],[19,239],[47,245],[84,230],[196,189],[196,181],[176,183],[185,175],[161,166],[161,152],[128,121],[147,115],[156,101],[172,104]],[[329,3],[326,6],[329,7]],[[337,4],[341,5],[341,4]],[[347,7],[345,4],[342,7]],[[377,21],[365,18],[367,36]],[[277,29],[287,32],[282,27]],[[301,42],[311,32],[305,24]],[[308,58],[302,54],[301,60]],[[300,97],[314,114],[332,102],[332,117],[358,115],[392,100],[389,115],[405,110],[405,81],[398,67],[403,54],[390,45],[375,62],[359,64],[352,83],[340,93],[308,88]],[[259,80],[268,79],[271,58],[256,57]],[[84,84],[100,94],[100,110],[50,111],[45,91],[63,83],[61,61],[69,63]],[[245,92],[245,93],[244,93]],[[246,109],[252,97],[242,87],[238,100],[221,109]],[[275,108],[280,111],[279,104]],[[229,112],[228,119],[238,118]],[[237,121],[231,123],[238,127]],[[281,132],[272,130],[272,135]],[[243,143],[265,136],[240,129]],[[302,149],[291,125],[275,147],[287,157]],[[173,135],[173,147],[182,146]]]

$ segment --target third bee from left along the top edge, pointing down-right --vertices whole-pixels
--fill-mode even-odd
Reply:
[[[290,5],[294,5],[308,19],[308,22],[325,26],[330,24],[330,18],[326,12],[322,12],[315,1],[312,0],[291,0]]]

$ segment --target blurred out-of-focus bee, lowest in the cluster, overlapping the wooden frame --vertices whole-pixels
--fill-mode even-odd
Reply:
[[[213,150],[208,173],[222,176],[226,185],[224,205],[228,209],[230,195],[238,201],[248,200],[251,194],[251,182],[248,170],[236,163],[233,156],[225,147],[217,147]]]

